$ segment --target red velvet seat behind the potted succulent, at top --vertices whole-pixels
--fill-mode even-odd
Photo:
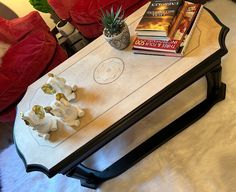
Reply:
[[[70,21],[87,38],[102,34],[101,9],[122,6],[125,16],[148,2],[148,0],[48,0],[61,19]]]

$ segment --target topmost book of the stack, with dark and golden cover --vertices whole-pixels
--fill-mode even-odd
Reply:
[[[182,0],[152,0],[136,32],[138,35],[167,36]]]

